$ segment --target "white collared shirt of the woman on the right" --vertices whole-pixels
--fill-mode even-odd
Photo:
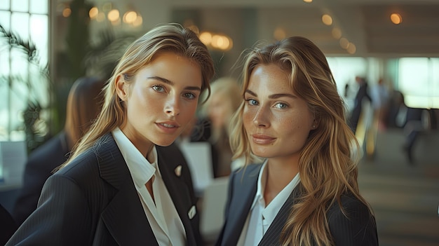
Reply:
[[[266,163],[267,160],[264,161],[261,170],[259,170],[255,199],[253,199],[252,207],[250,207],[250,212],[245,220],[237,246],[256,246],[259,244],[279,210],[281,210],[281,207],[292,193],[292,190],[300,182],[300,176],[297,173],[291,182],[271,200],[271,203],[265,206]]]

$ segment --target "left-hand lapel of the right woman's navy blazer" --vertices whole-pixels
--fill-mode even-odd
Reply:
[[[238,243],[248,213],[252,206],[257,190],[257,178],[262,165],[252,164],[246,168],[234,173],[232,182],[230,183],[233,194],[231,203],[227,207],[224,236],[222,245],[236,245]],[[244,177],[243,177],[244,175]]]

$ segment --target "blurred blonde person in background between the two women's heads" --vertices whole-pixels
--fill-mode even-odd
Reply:
[[[231,115],[243,102],[241,87],[235,78],[222,77],[212,81],[210,98],[203,105],[201,114],[210,122],[209,142],[213,146],[212,165],[214,177],[230,175],[243,165],[242,159],[232,162],[229,144]]]

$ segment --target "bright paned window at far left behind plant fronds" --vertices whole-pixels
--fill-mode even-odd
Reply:
[[[48,3],[0,1],[0,141],[32,144],[29,131],[47,131]]]

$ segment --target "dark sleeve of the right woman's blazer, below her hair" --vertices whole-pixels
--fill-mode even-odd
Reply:
[[[337,246],[378,245],[377,225],[366,205],[352,196],[344,196],[342,204],[347,217],[338,203],[327,214],[330,232]]]

